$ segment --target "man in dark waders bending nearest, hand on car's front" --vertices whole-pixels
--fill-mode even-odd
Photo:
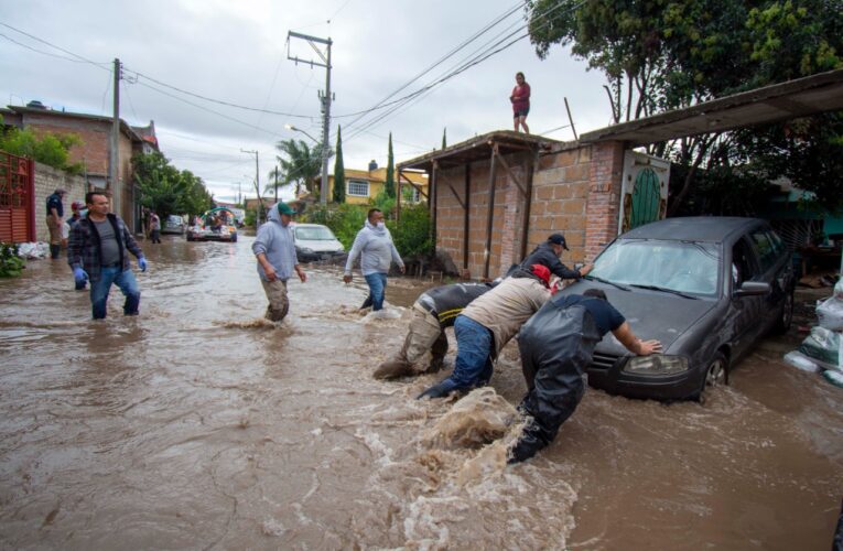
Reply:
[[[518,350],[528,392],[518,409],[531,419],[509,451],[509,463],[529,460],[553,442],[583,398],[583,374],[594,347],[609,331],[633,354],[661,352],[658,341],[633,334],[599,289],[556,294],[521,327]]]

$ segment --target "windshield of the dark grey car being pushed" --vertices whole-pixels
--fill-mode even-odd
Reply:
[[[707,242],[618,239],[594,262],[588,277],[610,283],[714,295],[720,247]]]

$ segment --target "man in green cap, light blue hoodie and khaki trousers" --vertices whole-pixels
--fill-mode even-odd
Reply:
[[[307,276],[295,258],[295,240],[290,222],[295,210],[279,202],[267,214],[267,222],[258,229],[251,250],[258,259],[258,276],[267,293],[267,320],[280,322],[290,310],[287,299],[287,280],[293,270],[304,283]]]

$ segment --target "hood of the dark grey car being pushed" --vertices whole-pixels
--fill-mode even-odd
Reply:
[[[586,289],[597,288],[620,312],[635,336],[644,341],[656,338],[664,350],[701,317],[714,309],[712,299],[684,299],[670,293],[635,289],[624,291],[613,285],[596,281],[581,281],[560,291],[563,294],[577,294]],[[606,335],[599,348],[614,354],[624,354],[626,348],[610,333]]]

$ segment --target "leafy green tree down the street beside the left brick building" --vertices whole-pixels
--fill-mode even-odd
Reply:
[[[132,166],[141,205],[154,210],[162,220],[171,214],[195,216],[212,208],[213,197],[202,179],[190,171],[179,171],[160,152],[134,155]]]

